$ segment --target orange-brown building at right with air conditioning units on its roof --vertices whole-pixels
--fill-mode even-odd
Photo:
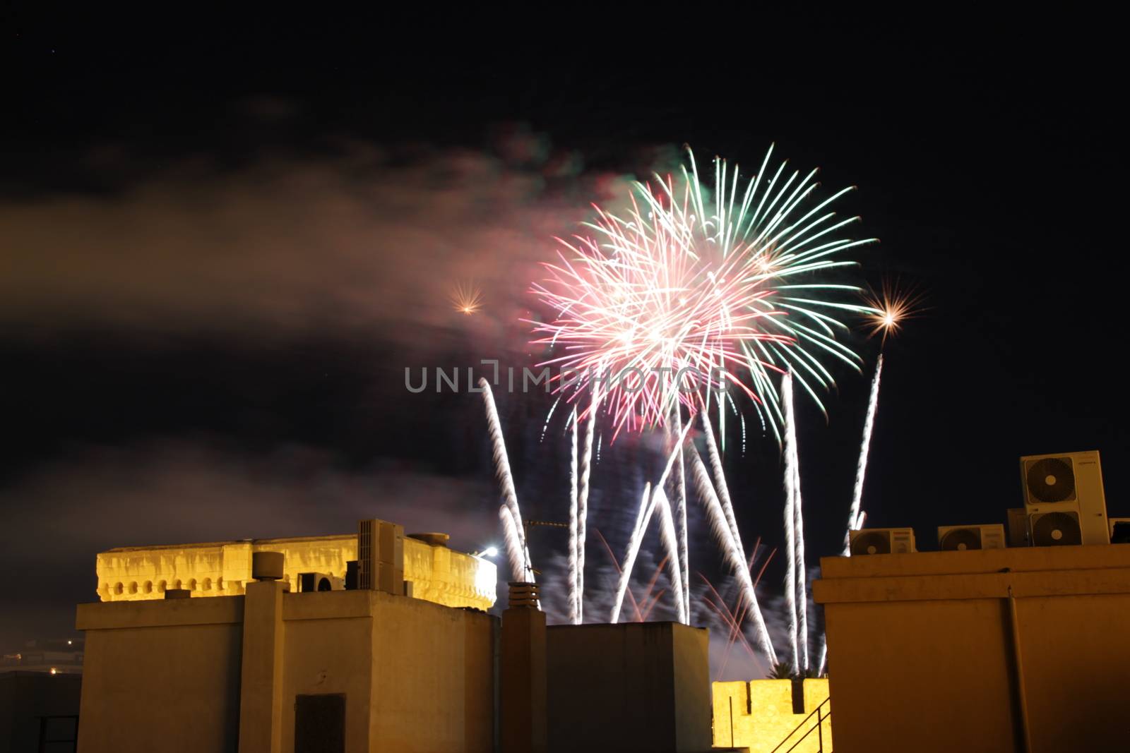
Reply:
[[[1130,544],[820,568],[836,753],[1130,748]]]

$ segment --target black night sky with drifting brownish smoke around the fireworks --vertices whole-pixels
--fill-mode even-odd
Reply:
[[[1102,452],[1110,513],[1130,515],[1110,19],[531,8],[8,11],[6,647],[66,631],[115,545],[365,515],[493,541],[477,396],[410,395],[403,368],[528,364],[519,319],[553,236],[683,143],[756,167],[775,142],[826,190],[859,186],[841,211],[881,239],[862,278],[925,295],[885,349],[872,525],[930,548],[937,525],[1003,522],[1017,457],[1076,449]],[[476,317],[446,300],[466,280]],[[878,342],[851,342],[869,373]],[[800,409],[814,564],[843,535],[867,394],[837,377],[827,422]],[[549,401],[499,406],[525,515],[563,518]],[[747,539],[775,546],[777,449],[749,431],[728,472]],[[653,464],[637,440],[602,454],[591,525],[617,550]],[[716,573],[695,525],[694,567]],[[531,541],[546,560],[564,543]]]

